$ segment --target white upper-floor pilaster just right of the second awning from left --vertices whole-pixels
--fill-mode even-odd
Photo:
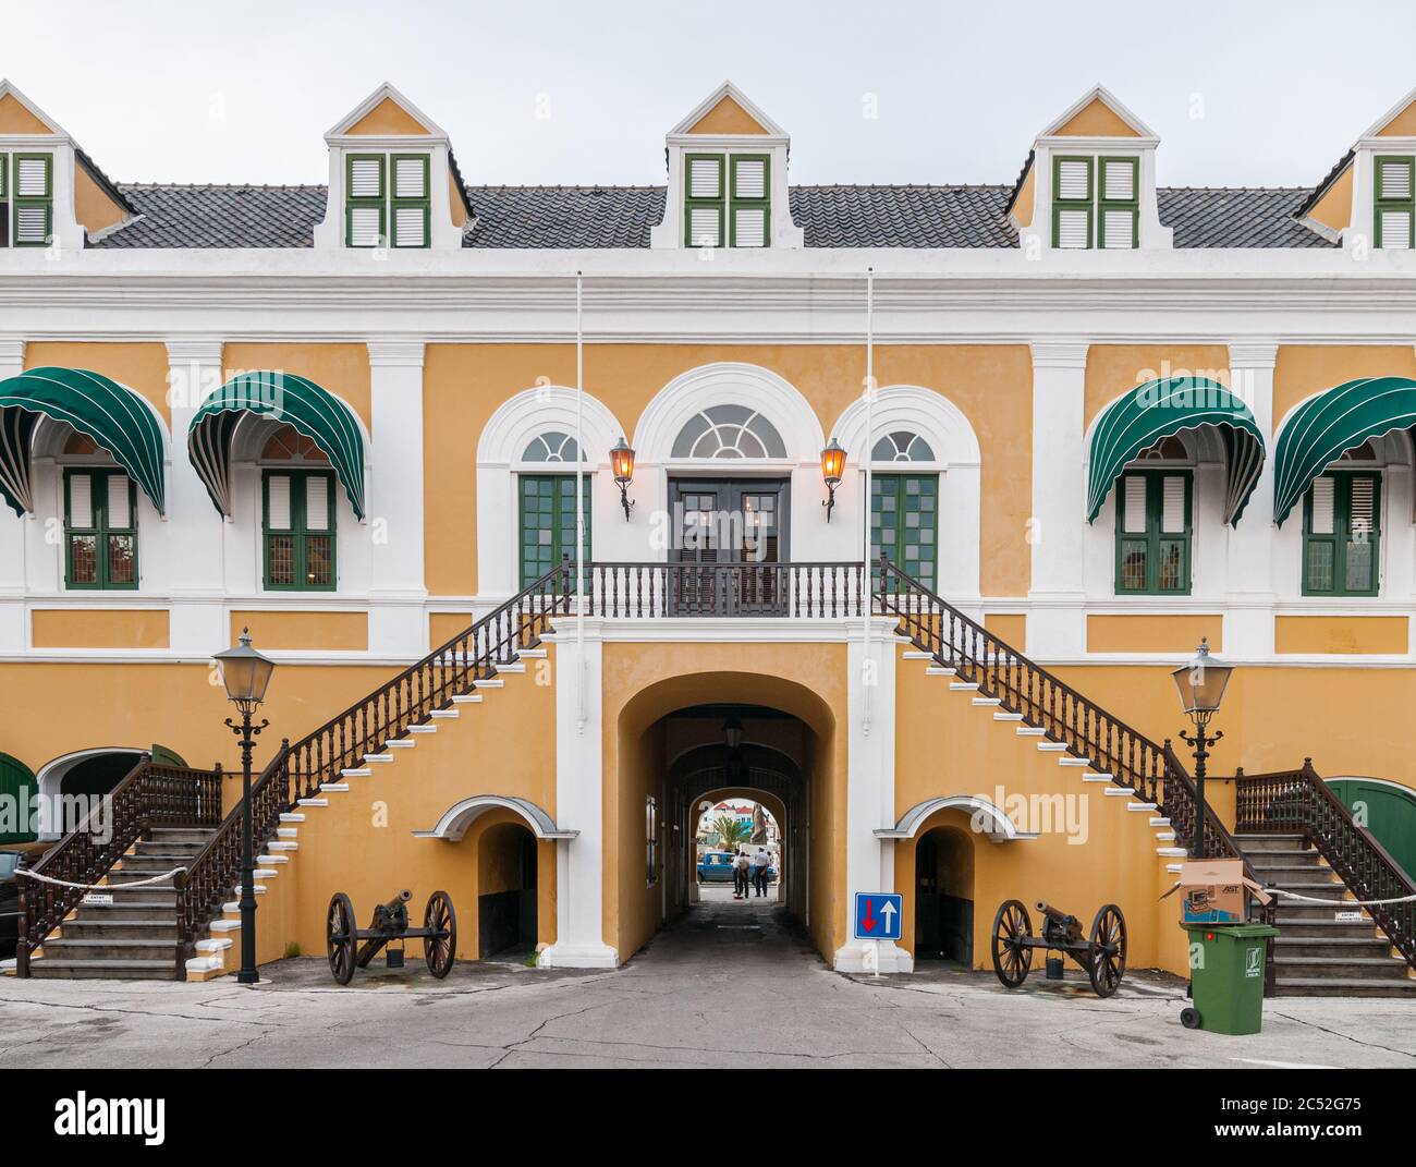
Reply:
[[[371,552],[368,647],[421,656],[423,616],[423,341],[371,340],[368,457]]]

